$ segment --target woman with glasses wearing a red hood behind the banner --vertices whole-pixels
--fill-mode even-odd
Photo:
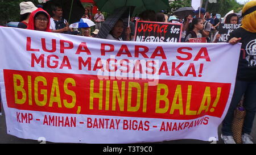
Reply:
[[[31,12],[30,19],[28,20],[27,29],[51,32],[51,30],[49,29],[50,18],[51,17],[45,10],[38,8],[35,11]]]

